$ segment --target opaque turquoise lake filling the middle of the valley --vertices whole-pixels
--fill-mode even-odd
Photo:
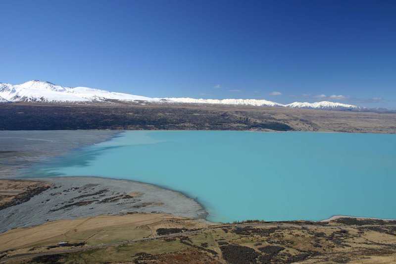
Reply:
[[[396,218],[396,135],[126,131],[27,174],[151,183],[196,199],[220,222]]]

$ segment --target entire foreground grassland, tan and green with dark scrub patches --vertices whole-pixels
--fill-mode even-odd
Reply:
[[[0,240],[7,263],[396,262],[396,221],[356,218],[208,225],[164,214],[97,216],[18,228]],[[28,255],[37,253],[50,254]]]

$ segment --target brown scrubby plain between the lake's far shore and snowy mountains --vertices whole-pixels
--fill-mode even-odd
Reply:
[[[59,129],[396,133],[396,113],[118,101],[0,104],[0,130]]]

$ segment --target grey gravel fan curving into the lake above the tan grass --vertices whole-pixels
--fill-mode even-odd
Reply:
[[[0,232],[60,219],[136,212],[171,213],[204,219],[206,211],[181,193],[128,180],[56,177],[29,200],[1,210]],[[26,199],[25,199],[26,200]]]

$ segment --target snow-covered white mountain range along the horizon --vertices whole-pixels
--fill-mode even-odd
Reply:
[[[361,106],[353,106],[328,101],[316,103],[295,102],[288,105],[279,104],[267,100],[256,99],[193,99],[193,98],[149,98],[124,93],[115,93],[88,87],[64,87],[45,81],[28,81],[23,84],[12,85],[0,83],[0,103],[12,102],[44,102],[44,103],[66,103],[66,102],[106,102],[106,101],[146,101],[158,103],[194,103],[194,104],[224,104],[245,106],[275,106],[288,108],[324,109],[324,110],[355,110],[355,111],[384,111],[385,108],[369,109]]]

